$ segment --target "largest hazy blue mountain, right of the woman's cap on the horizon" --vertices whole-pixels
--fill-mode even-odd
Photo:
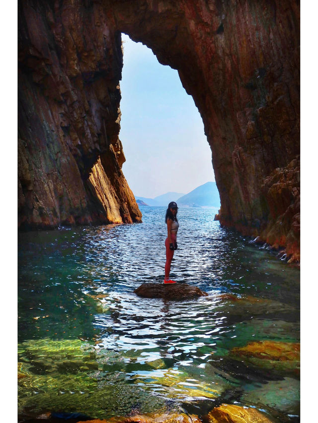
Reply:
[[[178,205],[190,207],[220,207],[220,195],[215,182],[206,182],[176,200]]]

